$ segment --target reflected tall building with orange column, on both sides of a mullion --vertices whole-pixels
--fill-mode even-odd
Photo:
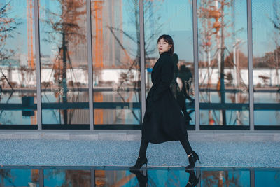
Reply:
[[[85,8],[85,6],[83,6]],[[118,67],[124,62],[122,1],[92,1],[92,57],[94,67]],[[86,16],[77,22],[79,33],[86,39]],[[73,67],[87,65],[87,42],[69,42],[69,55]],[[78,43],[78,44],[77,44]]]

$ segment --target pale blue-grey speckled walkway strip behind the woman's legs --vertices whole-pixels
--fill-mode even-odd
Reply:
[[[194,138],[193,138],[194,139]],[[280,167],[279,141],[197,141],[197,167]],[[139,140],[0,139],[0,165],[130,166]],[[179,141],[149,144],[148,166],[186,166],[188,158]]]

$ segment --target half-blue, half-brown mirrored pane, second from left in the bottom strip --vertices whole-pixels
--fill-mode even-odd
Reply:
[[[44,169],[44,186],[90,187],[91,175],[87,170]]]

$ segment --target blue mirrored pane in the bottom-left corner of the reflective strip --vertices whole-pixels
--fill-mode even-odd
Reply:
[[[0,186],[39,186],[39,170],[0,169]]]

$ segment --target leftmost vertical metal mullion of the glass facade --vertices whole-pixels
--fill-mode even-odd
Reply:
[[[37,124],[38,130],[42,130],[42,103],[41,103],[41,55],[40,55],[40,27],[38,1],[34,0],[35,21],[35,53],[36,53],[36,89],[37,89]]]

